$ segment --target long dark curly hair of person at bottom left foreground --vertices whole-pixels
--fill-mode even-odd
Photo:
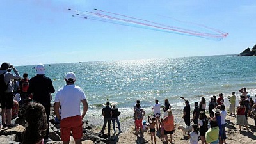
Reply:
[[[38,102],[31,102],[26,106],[23,144],[35,144],[44,138],[47,131],[45,108]]]

